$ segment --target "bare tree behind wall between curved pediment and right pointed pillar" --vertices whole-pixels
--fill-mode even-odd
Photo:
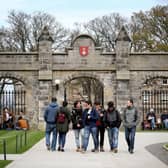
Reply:
[[[118,13],[112,13],[95,18],[84,26],[88,33],[93,35],[98,46],[114,50],[116,36],[125,23],[124,17]]]

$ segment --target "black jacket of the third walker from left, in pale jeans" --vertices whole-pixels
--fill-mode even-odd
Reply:
[[[72,109],[71,120],[72,120],[72,129],[82,129],[83,128],[82,108]],[[80,125],[79,127],[77,126],[78,124]]]

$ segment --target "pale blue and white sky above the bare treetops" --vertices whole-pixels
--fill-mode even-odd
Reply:
[[[130,17],[133,12],[147,11],[156,5],[168,5],[168,0],[0,0],[0,26],[6,25],[12,9],[28,14],[46,12],[71,28],[75,22],[87,22],[113,12]]]

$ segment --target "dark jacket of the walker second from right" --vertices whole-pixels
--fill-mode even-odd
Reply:
[[[119,128],[121,125],[121,117],[118,110],[115,108],[108,108],[104,115],[104,122],[106,127]]]

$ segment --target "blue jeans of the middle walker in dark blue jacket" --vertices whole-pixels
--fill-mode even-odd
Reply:
[[[83,148],[86,151],[89,143],[89,137],[92,134],[94,148],[98,149],[98,139],[97,139],[97,127],[85,126],[84,128],[84,140],[83,140]]]

